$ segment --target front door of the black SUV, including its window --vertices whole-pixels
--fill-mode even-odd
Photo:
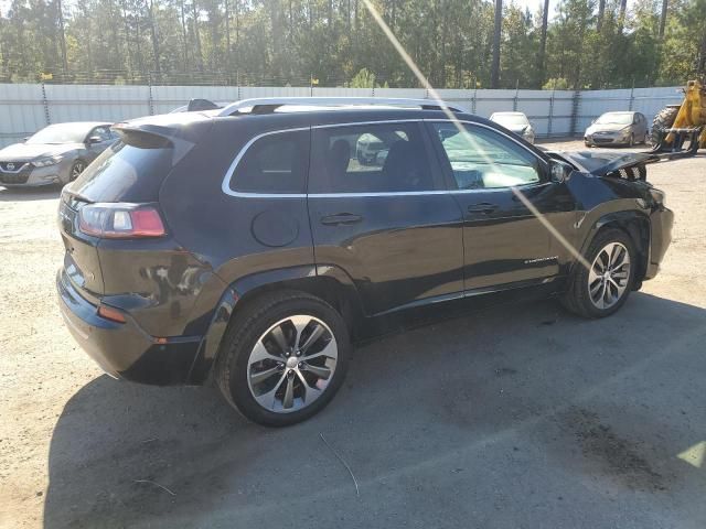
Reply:
[[[566,272],[576,202],[547,163],[480,123],[428,123],[452,196],[464,215],[467,292],[544,282]],[[564,242],[561,242],[564,241]]]

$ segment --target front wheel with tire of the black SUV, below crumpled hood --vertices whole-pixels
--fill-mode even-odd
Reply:
[[[561,303],[584,317],[609,316],[625,303],[635,281],[632,239],[619,229],[606,229],[595,237],[585,257],[588,268],[576,264]]]

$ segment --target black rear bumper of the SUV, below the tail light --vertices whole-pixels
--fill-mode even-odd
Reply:
[[[56,276],[56,290],[71,334],[108,375],[159,386],[188,382],[201,336],[170,337],[158,343],[127,313],[126,323],[106,320],[79,295],[63,269]]]

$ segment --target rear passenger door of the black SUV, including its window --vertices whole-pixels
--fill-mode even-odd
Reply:
[[[350,277],[368,315],[463,295],[462,216],[422,123],[314,126],[311,138],[319,274]]]

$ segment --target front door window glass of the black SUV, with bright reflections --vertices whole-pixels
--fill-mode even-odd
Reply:
[[[539,161],[527,150],[492,130],[435,123],[459,190],[486,190],[536,184]]]

